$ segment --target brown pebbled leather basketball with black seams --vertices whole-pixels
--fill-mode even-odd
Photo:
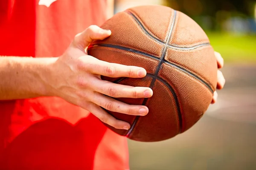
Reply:
[[[108,111],[130,123],[129,130],[111,130],[129,139],[156,142],[183,133],[204,115],[217,86],[217,61],[203,29],[186,14],[166,6],[138,6],[115,14],[101,28],[112,34],[93,41],[88,54],[122,65],[143,67],[141,79],[103,80],[150,87],[148,99],[118,98],[131,105],[145,105],[146,116]]]

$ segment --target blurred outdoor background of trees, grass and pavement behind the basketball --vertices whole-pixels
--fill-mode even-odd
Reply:
[[[224,58],[218,101],[183,134],[129,140],[131,170],[256,170],[256,0],[115,0],[115,13],[165,5],[194,19]]]

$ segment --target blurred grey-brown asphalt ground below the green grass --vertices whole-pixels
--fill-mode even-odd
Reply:
[[[163,142],[129,140],[131,170],[256,170],[256,65],[225,65],[218,102]]]

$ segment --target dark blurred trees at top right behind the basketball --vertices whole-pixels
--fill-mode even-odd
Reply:
[[[222,30],[230,17],[253,17],[256,0],[165,0],[164,5],[192,17],[205,30]]]

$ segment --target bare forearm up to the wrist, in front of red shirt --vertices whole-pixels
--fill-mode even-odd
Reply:
[[[47,76],[56,59],[0,57],[0,100],[49,96]]]

